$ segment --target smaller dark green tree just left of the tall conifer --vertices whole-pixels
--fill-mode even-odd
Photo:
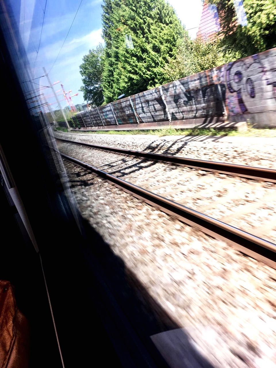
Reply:
[[[103,45],[100,43],[96,49],[82,58],[79,66],[83,85],[79,89],[84,93],[84,99],[92,105],[100,106],[103,103],[102,73],[103,73]]]

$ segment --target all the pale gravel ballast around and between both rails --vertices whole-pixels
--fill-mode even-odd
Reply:
[[[153,149],[147,150],[157,153],[275,167],[275,148],[272,144],[258,146],[255,151],[249,144],[188,141],[177,151],[172,137],[137,138],[60,132],[55,132],[55,135],[137,150],[151,144]],[[222,211],[221,216],[227,218],[228,207],[214,209],[212,202],[228,195],[230,208],[233,205],[233,191],[237,206],[243,200],[246,206],[252,205],[255,217],[251,217],[257,226],[263,227],[264,223],[268,223],[267,219],[263,220],[263,224],[261,221],[263,216],[271,215],[269,206],[274,211],[272,216],[275,214],[274,184],[272,188],[270,183],[200,173],[198,170],[125,158],[61,142],[58,146],[61,152],[94,164],[124,180],[148,185],[147,188],[155,192],[159,188],[159,194],[166,194],[168,198],[179,202],[185,200],[186,205],[190,198],[191,206],[194,205],[195,209],[205,206],[205,213],[209,211],[209,215],[214,215],[214,210],[218,213]],[[64,160],[64,165],[82,216],[123,259],[152,298],[162,305],[178,326],[184,328],[191,344],[213,367],[276,367],[275,270],[241,254],[223,241],[139,202],[67,160]],[[181,180],[182,185],[188,185],[189,193],[185,193],[187,190],[183,187],[179,194]],[[237,196],[240,192],[242,198]],[[270,198],[263,216],[257,215],[254,207],[262,198]],[[237,227],[240,227],[240,221]],[[246,224],[248,221],[244,226]],[[249,225],[252,227],[252,224]]]

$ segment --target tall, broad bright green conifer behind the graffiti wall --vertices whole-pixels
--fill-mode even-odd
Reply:
[[[102,8],[105,102],[162,84],[167,59],[187,35],[174,9],[165,0],[105,0]]]

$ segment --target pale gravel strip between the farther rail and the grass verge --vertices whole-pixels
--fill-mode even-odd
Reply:
[[[138,151],[276,168],[276,138],[54,134],[60,138]]]

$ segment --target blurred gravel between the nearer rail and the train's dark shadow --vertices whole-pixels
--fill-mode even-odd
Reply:
[[[213,367],[276,367],[275,270],[64,164],[82,215]]]

